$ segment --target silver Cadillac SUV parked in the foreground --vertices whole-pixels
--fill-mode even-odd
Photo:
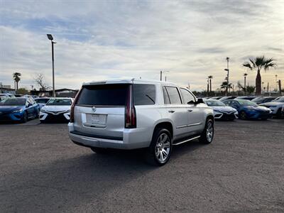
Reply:
[[[145,148],[148,161],[165,165],[174,145],[195,138],[212,142],[214,115],[202,99],[173,83],[109,80],[82,85],[68,126],[74,143],[96,153]]]

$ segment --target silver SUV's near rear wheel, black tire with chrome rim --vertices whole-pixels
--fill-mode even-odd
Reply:
[[[172,150],[173,145],[170,131],[163,128],[156,129],[153,133],[151,145],[146,149],[145,160],[151,165],[165,165],[170,159]],[[163,159],[164,157],[165,159]]]

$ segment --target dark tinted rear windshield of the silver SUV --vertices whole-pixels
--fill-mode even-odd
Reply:
[[[82,88],[77,104],[125,106],[129,84],[88,85]]]

